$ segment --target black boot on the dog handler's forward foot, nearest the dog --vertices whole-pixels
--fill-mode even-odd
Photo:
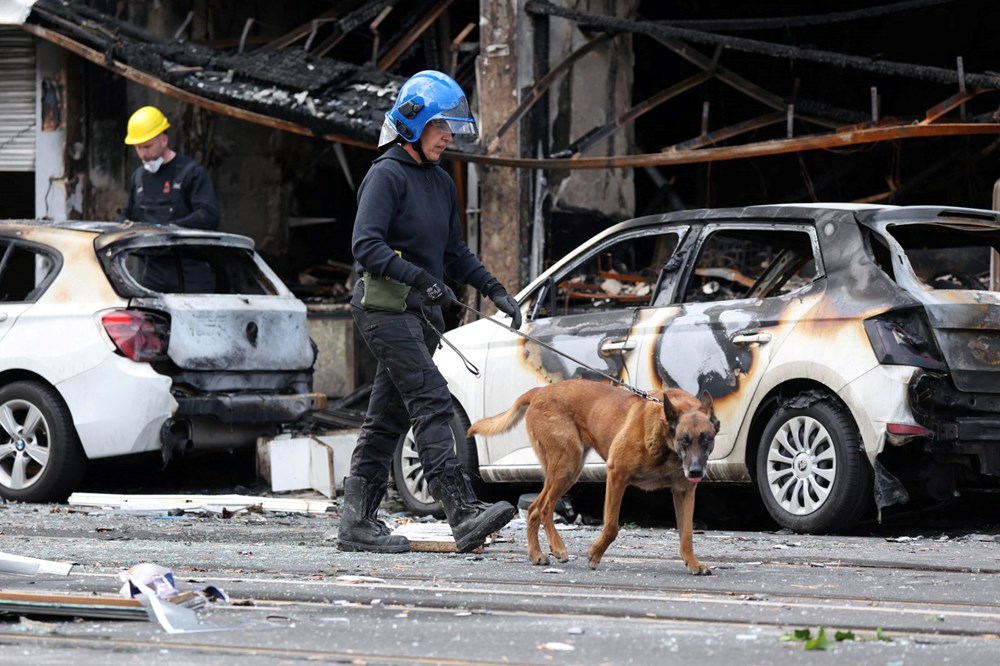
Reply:
[[[450,469],[427,482],[431,494],[444,504],[455,546],[460,553],[479,548],[486,537],[510,522],[516,510],[508,502],[487,504],[476,498],[469,477],[461,467]]]

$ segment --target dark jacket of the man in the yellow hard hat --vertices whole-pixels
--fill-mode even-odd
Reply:
[[[215,229],[219,202],[208,172],[184,155],[176,155],[156,173],[140,166],[129,178],[128,200],[118,215],[119,222],[124,220]]]

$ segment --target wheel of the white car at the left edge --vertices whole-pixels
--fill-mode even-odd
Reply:
[[[87,457],[66,403],[41,382],[0,388],[0,496],[61,502],[83,478]]]

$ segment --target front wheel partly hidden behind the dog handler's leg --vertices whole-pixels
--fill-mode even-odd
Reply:
[[[455,437],[455,455],[465,466],[472,480],[472,489],[482,498],[485,494],[484,484],[479,477],[479,456],[476,453],[475,439],[466,437],[469,430],[469,419],[458,405],[454,406],[454,417],[451,420],[451,432]],[[423,466],[417,456],[416,442],[413,430],[400,438],[396,451],[392,456],[392,478],[396,484],[403,504],[416,516],[434,516],[444,518],[441,503],[431,496],[424,478]]]

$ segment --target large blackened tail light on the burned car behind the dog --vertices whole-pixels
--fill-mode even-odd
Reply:
[[[947,370],[923,309],[893,310],[865,320],[879,363]]]

